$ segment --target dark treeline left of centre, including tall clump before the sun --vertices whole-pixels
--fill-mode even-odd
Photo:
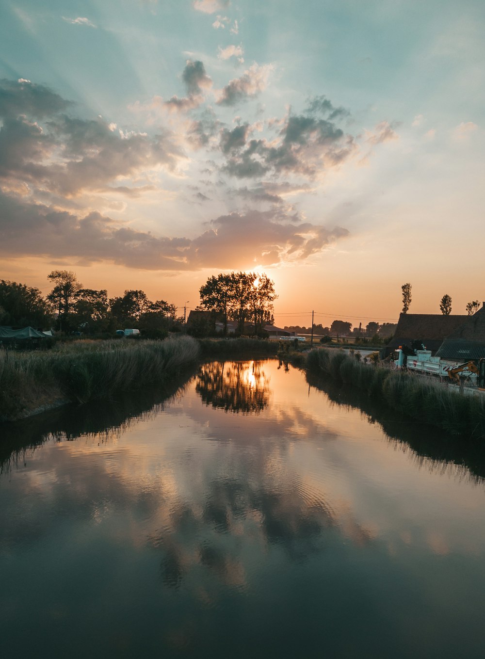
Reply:
[[[63,333],[113,335],[117,329],[136,328],[146,338],[163,338],[185,326],[186,308],[165,300],[151,301],[140,289],[130,289],[109,298],[105,289],[84,288],[76,274],[53,270],[47,275],[52,290],[45,297],[39,289],[14,281],[0,281],[0,325],[32,326]],[[200,287],[200,305],[210,324],[194,332],[204,336],[215,332],[216,322],[235,322],[239,334],[251,324],[253,333],[264,333],[273,322],[273,281],[264,273],[231,272],[212,276]],[[183,313],[181,313],[183,309]]]

